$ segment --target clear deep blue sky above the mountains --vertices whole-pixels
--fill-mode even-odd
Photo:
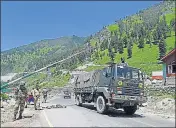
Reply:
[[[61,36],[89,36],[159,1],[3,1],[1,51]]]

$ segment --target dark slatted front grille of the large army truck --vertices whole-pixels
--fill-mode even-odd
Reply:
[[[140,92],[141,90],[138,87],[134,87],[134,86],[126,86],[126,87],[123,87],[122,89],[123,95],[136,96],[136,95],[140,95]]]

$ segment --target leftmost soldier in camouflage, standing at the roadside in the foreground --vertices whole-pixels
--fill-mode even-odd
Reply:
[[[20,110],[19,110],[18,119],[22,119],[26,98],[27,98],[27,89],[25,87],[25,82],[21,81],[20,87],[15,91],[16,103],[15,103],[15,109],[14,109],[14,118],[13,118],[14,121],[16,120],[16,115],[18,113],[19,108]]]

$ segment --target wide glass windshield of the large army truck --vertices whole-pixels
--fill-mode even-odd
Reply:
[[[139,79],[139,70],[128,67],[117,67],[117,78]]]

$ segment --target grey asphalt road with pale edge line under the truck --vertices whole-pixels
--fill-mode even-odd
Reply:
[[[123,110],[110,110],[106,115],[96,112],[92,105],[74,105],[73,99],[61,96],[42,104],[61,104],[67,108],[44,109],[40,121],[43,127],[175,127],[175,121],[156,115],[141,113],[127,116]]]

